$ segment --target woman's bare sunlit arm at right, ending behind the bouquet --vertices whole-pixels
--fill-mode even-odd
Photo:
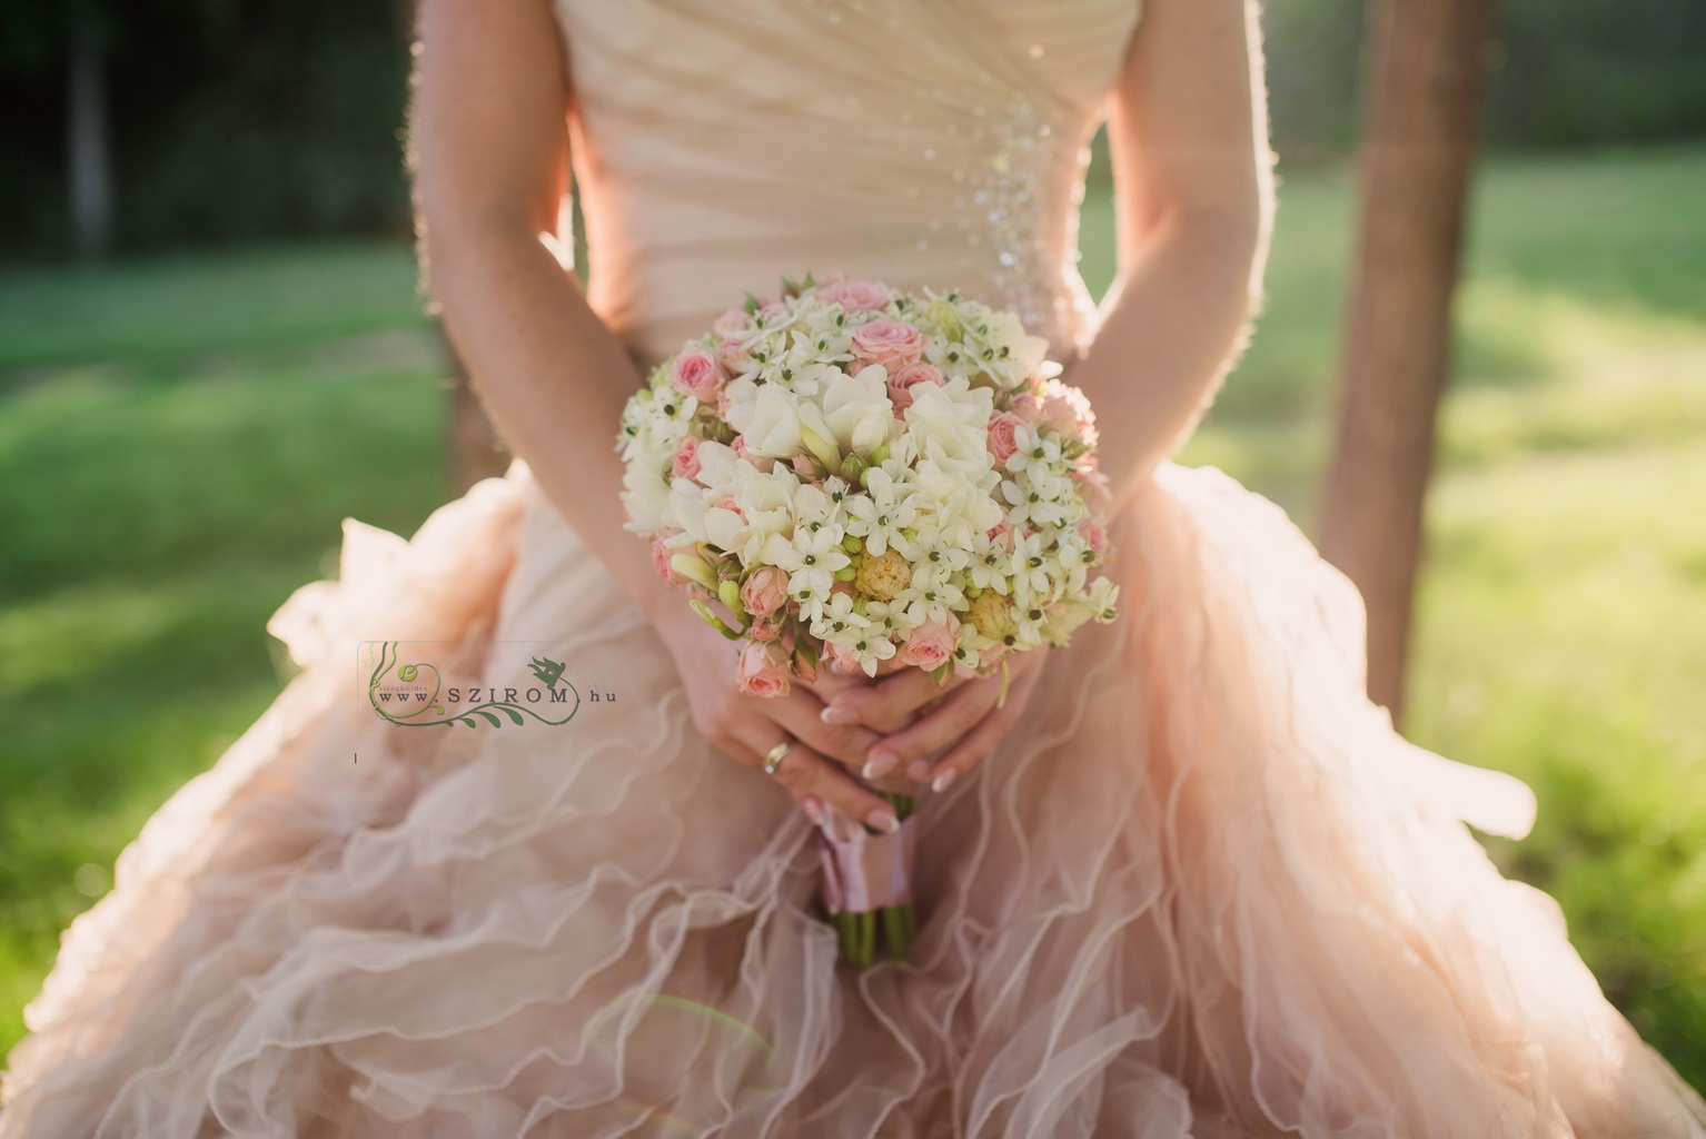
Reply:
[[[1261,298],[1273,227],[1254,0],[1148,0],[1107,121],[1119,275],[1066,377],[1116,501],[1196,426]]]

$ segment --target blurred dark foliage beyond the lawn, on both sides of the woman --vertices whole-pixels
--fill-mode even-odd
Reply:
[[[1367,0],[1269,0],[1281,157],[1344,153]],[[399,232],[406,0],[0,0],[0,257],[65,225],[65,58],[109,61],[123,249]],[[1501,150],[1706,136],[1699,0],[1503,0]]]

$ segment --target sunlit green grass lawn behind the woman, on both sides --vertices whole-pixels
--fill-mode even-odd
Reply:
[[[1508,873],[1706,1084],[1706,150],[1500,160],[1477,191],[1409,735],[1541,796]],[[1187,462],[1305,525],[1351,186],[1286,179],[1256,343]],[[1105,189],[1085,276],[1109,264]],[[408,249],[0,275],[0,1049],[148,813],[266,706],[264,621],[338,520],[440,503]]]

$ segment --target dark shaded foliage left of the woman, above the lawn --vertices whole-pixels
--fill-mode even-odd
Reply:
[[[399,234],[404,75],[392,0],[0,0],[0,254],[75,247],[101,87],[118,247]]]

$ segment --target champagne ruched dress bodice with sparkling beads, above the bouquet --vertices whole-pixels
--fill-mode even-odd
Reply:
[[[1071,355],[1078,203],[1140,0],[554,0],[590,300],[647,361],[744,292],[960,288]]]

